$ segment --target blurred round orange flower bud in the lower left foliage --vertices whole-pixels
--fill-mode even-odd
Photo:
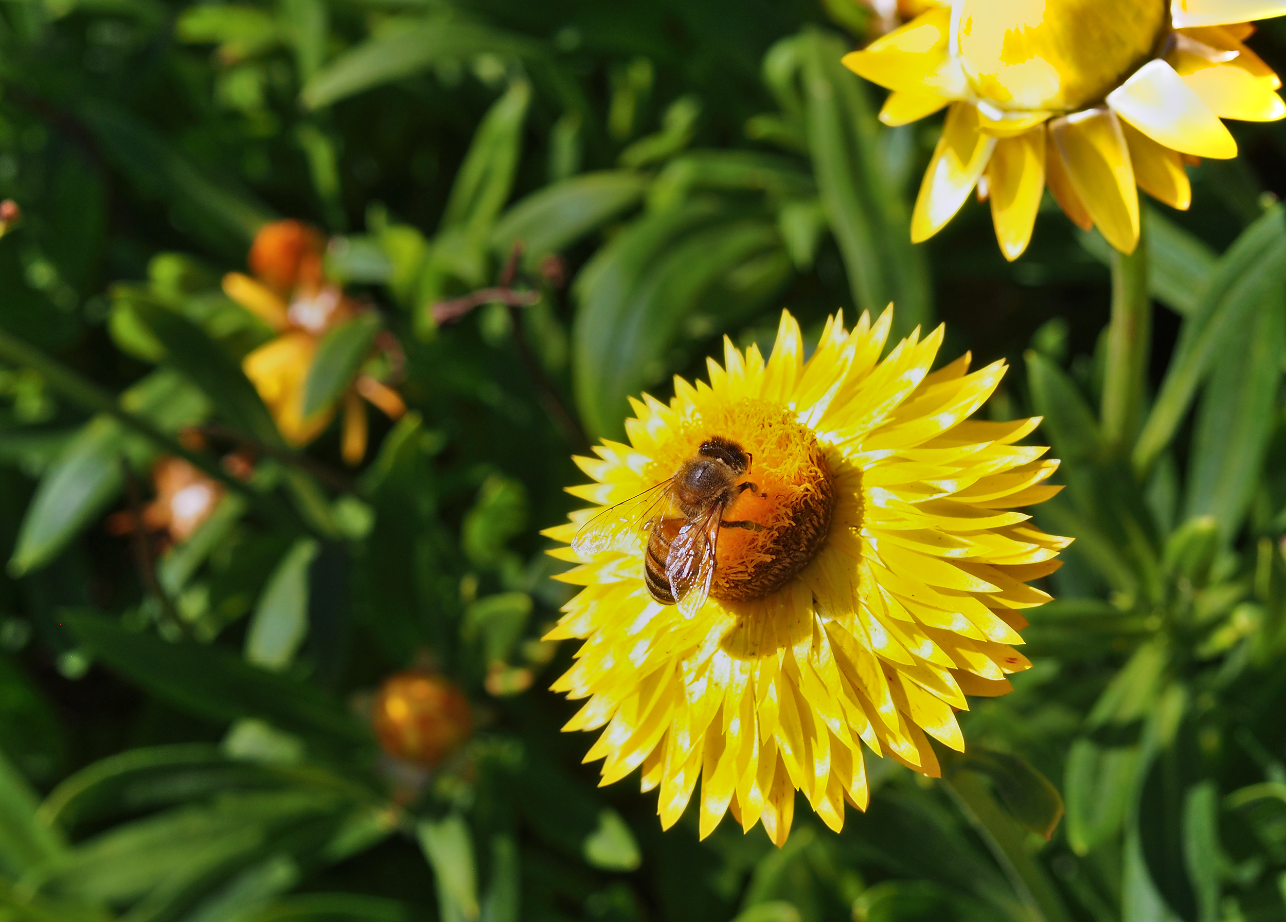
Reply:
[[[427,766],[441,763],[473,732],[464,693],[440,675],[421,670],[385,680],[373,723],[385,752]]]

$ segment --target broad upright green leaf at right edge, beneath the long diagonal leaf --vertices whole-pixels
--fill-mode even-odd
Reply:
[[[1249,323],[1229,330],[1220,350],[1228,357],[1214,363],[1197,410],[1184,516],[1213,516],[1224,541],[1250,508],[1273,433],[1286,352],[1283,293],[1280,279]]]

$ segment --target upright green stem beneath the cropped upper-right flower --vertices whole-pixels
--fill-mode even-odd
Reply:
[[[1107,328],[1102,433],[1110,455],[1128,455],[1138,429],[1147,382],[1152,300],[1147,288],[1147,238],[1133,253],[1112,252],[1112,320]]]

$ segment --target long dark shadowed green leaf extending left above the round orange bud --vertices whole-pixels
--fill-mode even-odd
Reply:
[[[64,624],[107,665],[210,720],[258,718],[332,748],[370,739],[340,702],[311,685],[251,666],[235,653],[131,634],[98,615],[68,612]]]

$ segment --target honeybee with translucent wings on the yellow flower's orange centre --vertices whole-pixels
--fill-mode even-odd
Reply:
[[[754,455],[715,436],[697,449],[669,480],[604,509],[586,522],[571,547],[580,554],[631,549],[629,539],[647,532],[643,575],[647,590],[661,604],[678,604],[694,615],[706,603],[715,576],[720,529],[759,530],[757,522],[725,522],[723,512],[754,484],[738,482]]]

